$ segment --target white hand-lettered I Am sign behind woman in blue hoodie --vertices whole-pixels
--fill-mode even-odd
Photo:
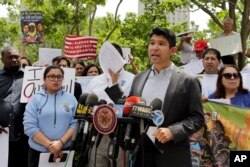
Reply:
[[[23,77],[23,85],[21,92],[21,103],[27,103],[32,95],[44,89],[43,72],[46,67],[26,66]],[[75,85],[75,69],[63,68],[64,79],[62,88],[66,92],[74,94]]]

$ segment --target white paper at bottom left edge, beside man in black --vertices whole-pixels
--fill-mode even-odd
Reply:
[[[8,167],[9,157],[9,128],[4,128],[8,133],[0,134],[0,166]]]

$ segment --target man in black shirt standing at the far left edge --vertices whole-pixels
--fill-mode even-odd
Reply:
[[[19,52],[13,46],[2,50],[3,69],[0,69],[0,135],[9,128],[9,167],[27,166],[28,138],[23,132],[25,104],[20,103],[23,71]]]

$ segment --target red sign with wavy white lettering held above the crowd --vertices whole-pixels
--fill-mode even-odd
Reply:
[[[95,60],[97,42],[98,39],[96,37],[67,35],[64,43],[64,54],[67,58]]]

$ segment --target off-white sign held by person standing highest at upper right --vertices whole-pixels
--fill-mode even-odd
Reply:
[[[242,52],[242,44],[240,34],[229,35],[216,38],[210,41],[211,48],[220,51],[221,56],[232,55]]]

